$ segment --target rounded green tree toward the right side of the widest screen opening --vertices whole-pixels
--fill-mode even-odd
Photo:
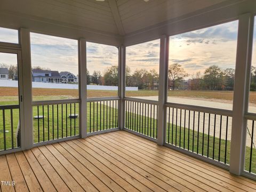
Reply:
[[[222,90],[223,89],[223,72],[217,65],[212,65],[204,71],[204,82],[208,89]]]

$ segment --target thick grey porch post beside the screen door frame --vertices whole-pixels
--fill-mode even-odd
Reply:
[[[22,54],[22,80],[23,80],[23,95],[20,99],[23,100],[23,107],[26,113],[21,114],[24,119],[24,132],[21,133],[21,149],[31,149],[34,144],[33,134],[33,106],[32,106],[32,75],[31,75],[31,54],[30,54],[30,31],[25,28],[20,29],[20,43]],[[22,126],[22,125],[21,125]]]

